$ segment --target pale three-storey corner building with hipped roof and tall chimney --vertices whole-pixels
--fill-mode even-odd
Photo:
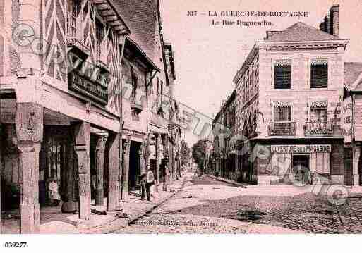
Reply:
[[[344,51],[339,6],[320,29],[298,22],[255,42],[234,77],[243,182],[344,183]],[[310,175],[310,176],[309,176]],[[319,178],[320,178],[319,177]]]

